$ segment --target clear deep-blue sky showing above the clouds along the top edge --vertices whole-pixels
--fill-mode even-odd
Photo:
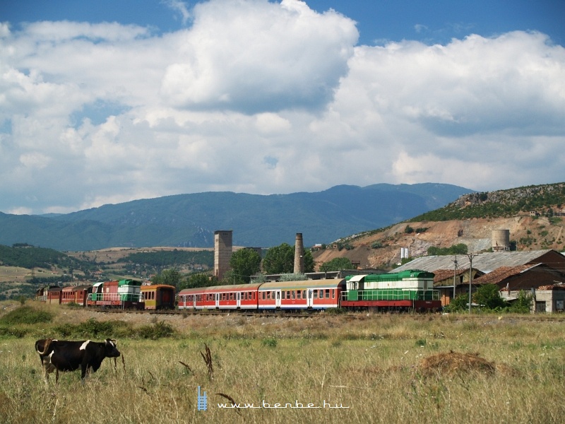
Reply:
[[[197,2],[183,3],[189,11]],[[13,25],[36,20],[116,21],[172,32],[190,23],[178,9],[174,13],[171,4],[159,0],[8,0],[0,4],[0,17]],[[403,39],[448,42],[469,33],[491,36],[513,30],[538,30],[554,42],[565,42],[565,1],[314,0],[307,4],[320,13],[333,8],[355,20],[359,42],[368,45]]]

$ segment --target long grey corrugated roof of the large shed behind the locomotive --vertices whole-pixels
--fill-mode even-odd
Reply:
[[[545,250],[532,250],[528,252],[487,252],[477,254],[472,258],[473,269],[478,269],[484,273],[494,271],[500,266],[520,266],[529,264],[535,259],[542,257],[547,252],[552,252],[552,249]],[[555,251],[558,253],[557,251]],[[413,261],[399,266],[395,269],[396,272],[406,271],[407,269],[422,269],[422,271],[434,272],[436,269],[455,269],[453,264],[455,255],[449,256],[427,256],[416,258]],[[457,268],[469,269],[469,258],[465,254],[457,255]]]

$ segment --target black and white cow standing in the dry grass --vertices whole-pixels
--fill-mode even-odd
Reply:
[[[55,381],[59,382],[59,371],[76,371],[78,367],[81,367],[81,380],[84,383],[87,370],[95,372],[104,358],[118,358],[120,355],[116,341],[109,338],[102,343],[44,338],[35,342],[35,350],[40,355],[46,383],[50,372],[57,371]]]

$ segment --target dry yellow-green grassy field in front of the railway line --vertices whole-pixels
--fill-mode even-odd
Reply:
[[[32,305],[52,322],[2,324],[18,307],[0,307],[2,423],[561,423],[565,416],[559,318],[156,319]],[[94,320],[121,329],[121,358],[106,359],[84,385],[79,372],[44,384],[35,339]],[[152,326],[172,333],[151,339],[137,331]],[[9,336],[12,327],[20,337]],[[105,336],[116,334],[96,338]],[[198,410],[198,387],[206,410]],[[228,398],[239,409],[218,406],[232,406]]]

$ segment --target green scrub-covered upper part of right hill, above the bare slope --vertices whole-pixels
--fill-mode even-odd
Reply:
[[[565,183],[543,184],[496,192],[470,193],[443,208],[422,213],[411,222],[507,218],[520,213],[546,216],[565,212]]]

